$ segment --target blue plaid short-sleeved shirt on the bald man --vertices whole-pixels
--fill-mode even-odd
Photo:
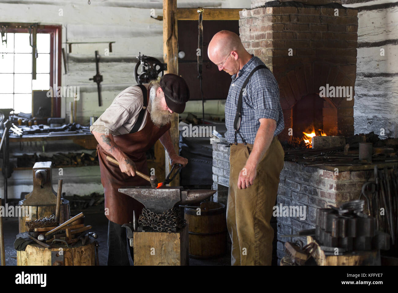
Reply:
[[[230,143],[235,141],[234,120],[243,83],[254,67],[264,65],[258,57],[252,56],[252,59],[239,71],[238,77],[236,77],[236,74],[232,76],[232,83],[229,87],[225,103],[225,126],[227,128],[225,138]],[[246,85],[245,91],[246,93],[244,92],[242,97],[242,118],[239,128],[239,133],[244,140],[248,144],[254,144],[254,138],[256,138],[260,126],[260,118],[274,119],[277,124],[274,136],[280,134],[285,128],[285,123],[279,101],[278,83],[272,72],[269,69],[256,71]],[[238,143],[243,143],[239,134],[236,134],[236,140]]]

